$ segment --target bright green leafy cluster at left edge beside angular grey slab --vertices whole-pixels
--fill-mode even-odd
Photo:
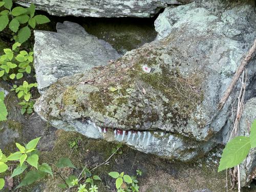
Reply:
[[[0,57],[0,77],[7,79],[20,79],[23,73],[31,73],[31,63],[33,62],[33,52],[19,51],[17,48],[21,44],[16,42],[12,49],[4,49],[4,55]]]

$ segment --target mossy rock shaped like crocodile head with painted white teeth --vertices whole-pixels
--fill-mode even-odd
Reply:
[[[35,111],[58,129],[145,153],[182,161],[203,155],[216,145],[212,139],[237,98],[239,84],[217,109],[256,36],[254,6],[212,0],[168,7],[156,21],[158,40],[108,66],[58,79]]]

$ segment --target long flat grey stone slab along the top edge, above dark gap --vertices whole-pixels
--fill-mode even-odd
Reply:
[[[151,17],[168,5],[179,5],[176,0],[18,0],[16,3],[29,6],[34,3],[39,10],[52,15],[83,17]]]

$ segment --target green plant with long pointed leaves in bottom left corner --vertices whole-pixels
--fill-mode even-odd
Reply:
[[[0,172],[5,172],[8,169],[9,162],[11,162],[11,165],[15,164],[17,161],[19,162],[13,170],[11,178],[23,174],[26,169],[29,169],[28,167],[35,168],[35,170],[29,170],[25,174],[25,177],[16,188],[30,185],[31,183],[44,178],[47,174],[53,176],[52,169],[47,163],[38,164],[39,152],[36,149],[36,146],[39,140],[40,137],[31,140],[24,146],[16,143],[19,151],[10,154],[8,157],[6,157],[0,150]],[[0,189],[4,186],[5,180],[0,179]]]

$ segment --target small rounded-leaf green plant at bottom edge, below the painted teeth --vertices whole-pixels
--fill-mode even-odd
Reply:
[[[136,176],[130,177],[129,175],[124,175],[124,172],[110,172],[109,176],[116,179],[116,189],[117,192],[138,192],[139,186],[138,181],[136,180]]]

